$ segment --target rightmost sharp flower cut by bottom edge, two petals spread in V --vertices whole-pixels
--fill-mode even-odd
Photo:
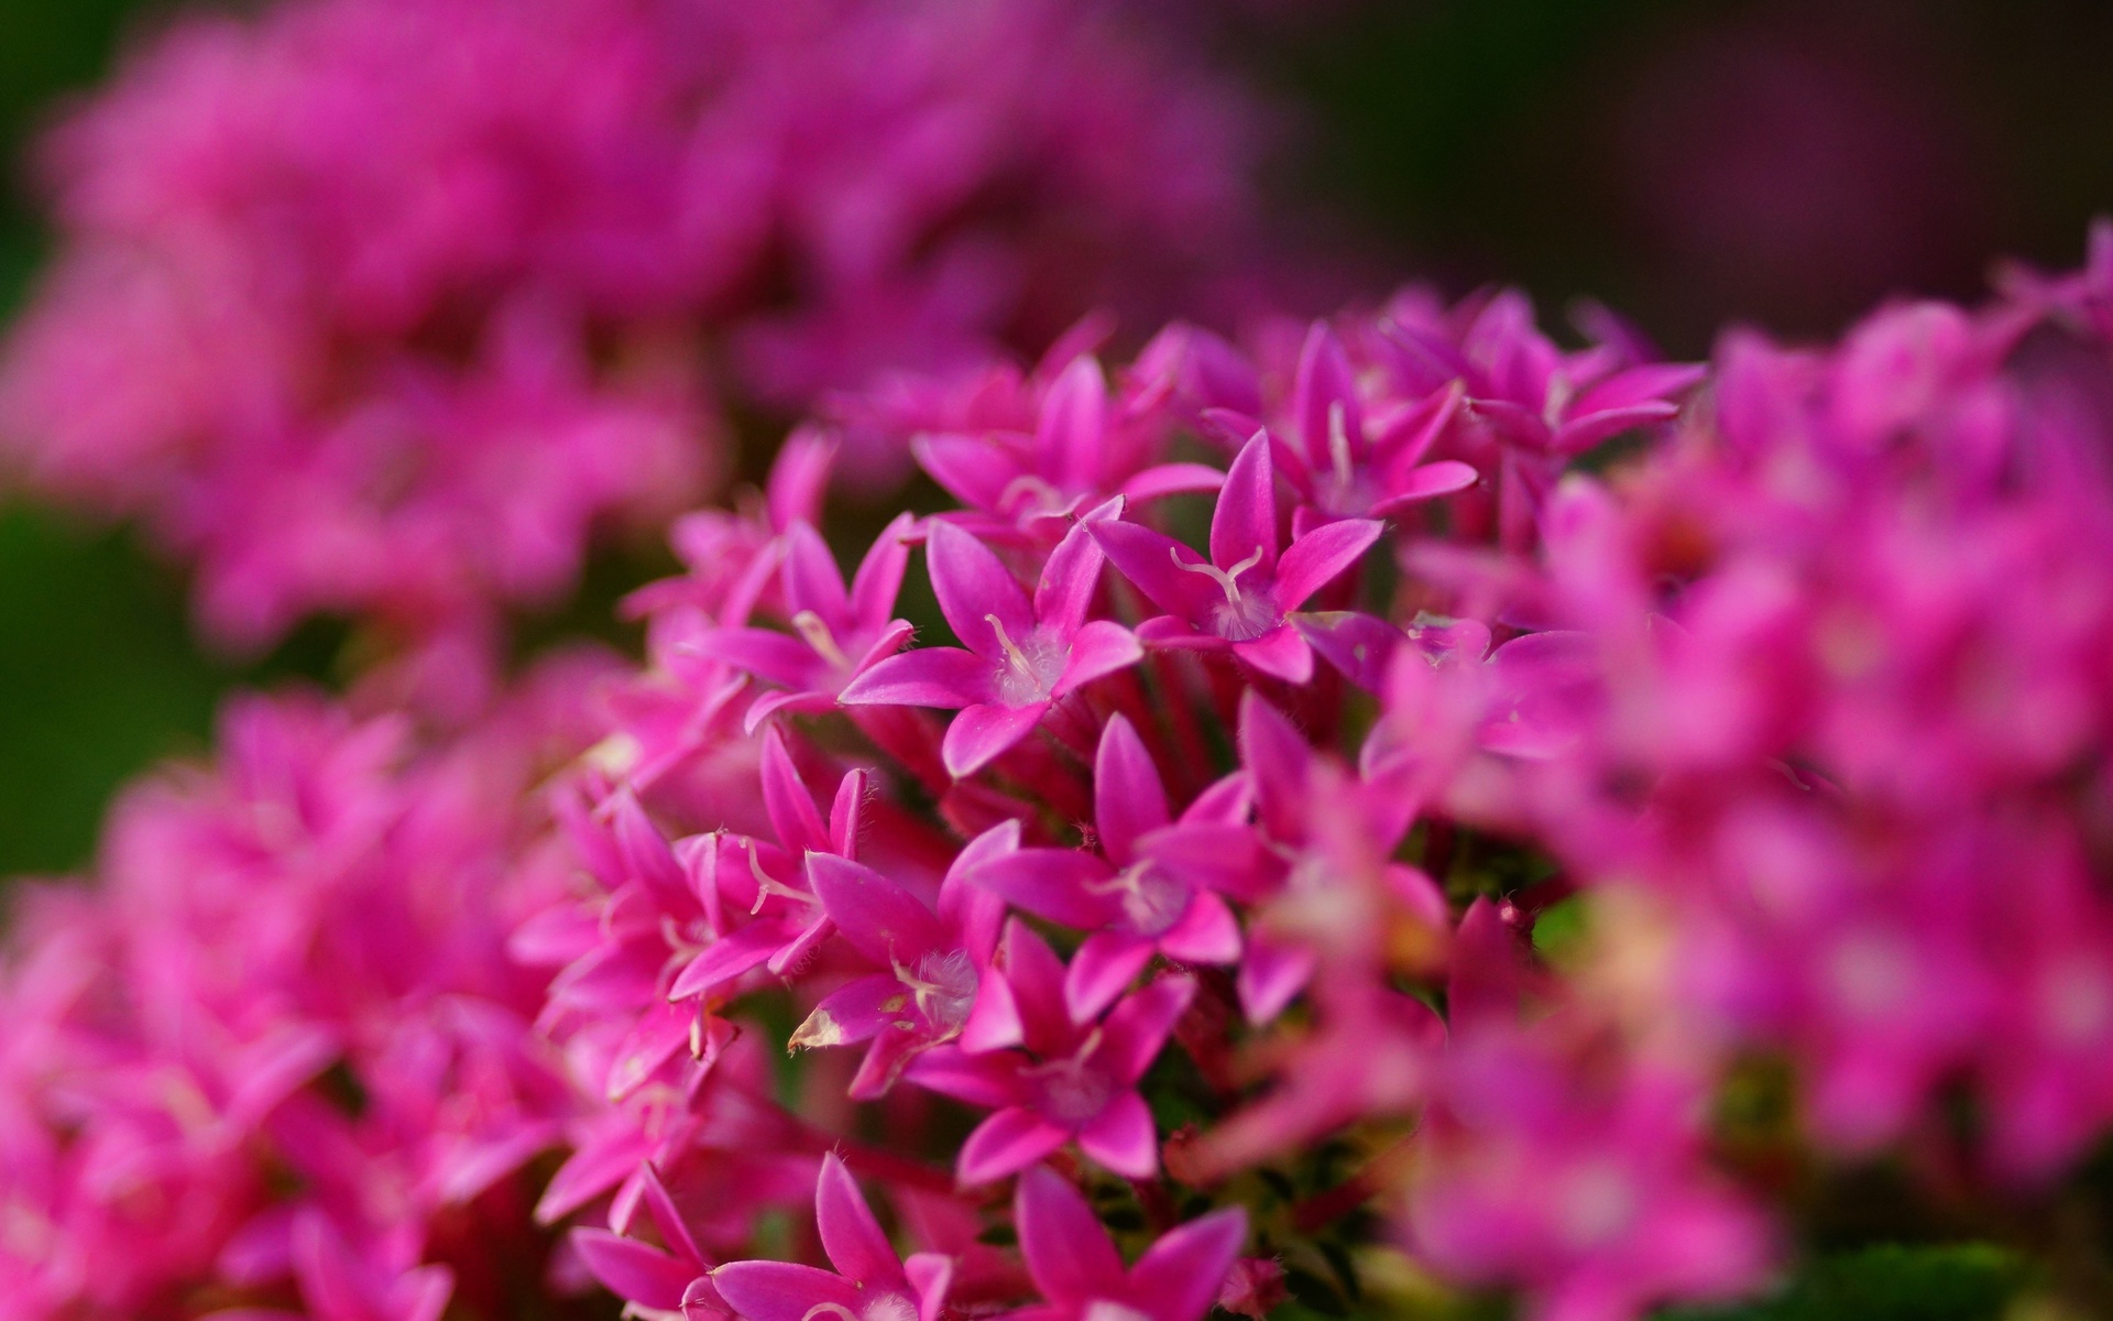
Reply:
[[[1086,1198],[1046,1165],[1021,1175],[1012,1217],[1027,1272],[1044,1298],[1012,1313],[1025,1321],[1111,1313],[1200,1321],[1247,1239],[1247,1211],[1226,1207],[1160,1236],[1137,1264],[1124,1266]]]

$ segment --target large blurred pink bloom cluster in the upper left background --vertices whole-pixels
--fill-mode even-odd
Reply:
[[[1230,300],[1257,127],[1120,4],[190,17],[46,144],[0,429],[222,640],[336,613],[456,664],[699,499],[727,404]]]

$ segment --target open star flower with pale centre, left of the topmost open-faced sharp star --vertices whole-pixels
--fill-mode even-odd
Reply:
[[[1120,507],[1120,505],[1118,505]],[[934,520],[925,539],[932,590],[949,628],[968,647],[921,647],[887,657],[849,685],[845,706],[959,708],[942,757],[955,778],[972,776],[1021,742],[1050,708],[1092,683],[1137,664],[1130,630],[1088,619],[1101,579],[1092,528],[1114,518],[1103,507],[1073,524],[1050,552],[1033,600],[972,535]]]

